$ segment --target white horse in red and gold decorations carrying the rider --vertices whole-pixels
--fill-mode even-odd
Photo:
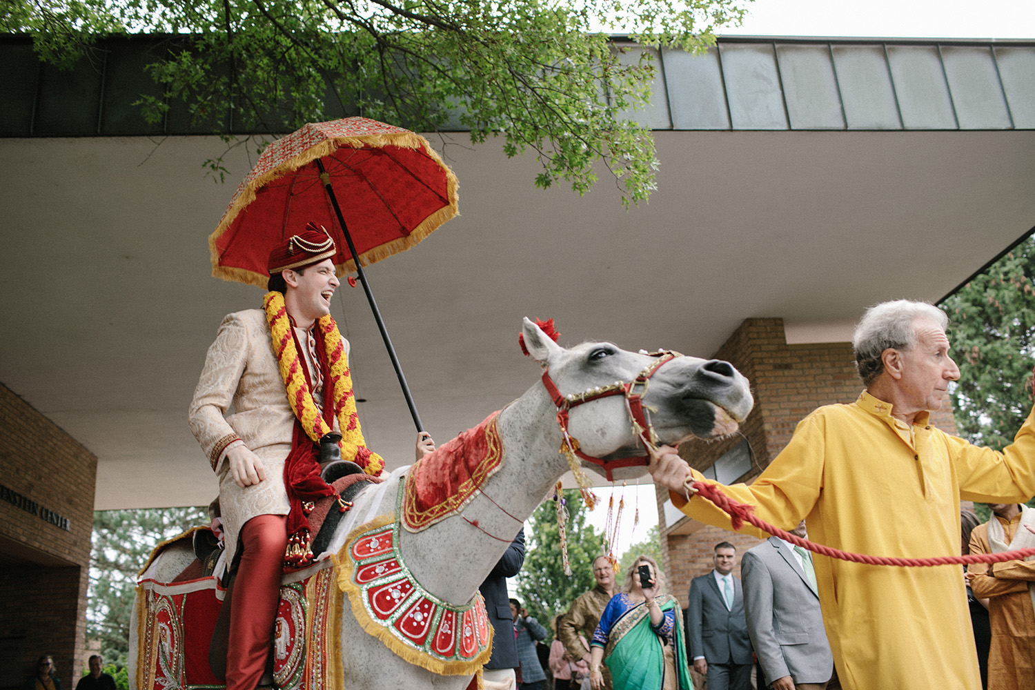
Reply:
[[[503,456],[499,469],[462,510],[419,532],[398,530],[400,554],[413,578],[426,592],[454,606],[474,599],[478,586],[506,550],[521,521],[532,514],[568,470],[564,455],[558,452],[564,439],[558,403],[568,410],[566,430],[570,438],[578,439],[580,455],[603,462],[645,455],[645,439],[675,445],[692,437],[730,434],[753,404],[747,380],[727,362],[693,357],[661,360],[620,350],[610,342],[565,349],[527,319],[523,331],[529,354],[546,376],[500,413],[498,430]],[[595,393],[596,389],[602,389],[602,393],[614,391],[618,389],[616,383],[633,382],[638,377],[640,383],[629,393],[642,394],[643,407],[649,410],[647,423],[639,426],[630,418],[630,410],[637,407],[634,397],[630,400],[621,389],[618,394],[599,397]],[[548,382],[553,383],[554,391],[549,390]],[[583,467],[604,472],[593,461],[583,460]],[[363,516],[393,512],[408,471],[396,471],[382,484],[362,489],[350,511],[359,517],[343,520],[337,532],[355,529]],[[613,469],[611,474],[615,479],[627,479],[645,473],[641,463]],[[379,505],[372,505],[375,502]],[[345,534],[335,534],[331,543],[339,547],[344,542]],[[184,545],[182,553],[164,556],[165,562],[157,564],[152,575],[171,579],[193,558],[187,550]],[[463,690],[470,682],[471,673],[439,676],[408,663],[360,627],[347,597],[342,608],[345,690]],[[137,630],[136,621],[130,630]],[[137,690],[135,642],[135,638],[130,639],[131,690]]]

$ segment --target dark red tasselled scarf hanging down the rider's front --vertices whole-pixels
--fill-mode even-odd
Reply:
[[[292,322],[291,337],[295,340],[295,349],[298,351],[298,361],[302,365],[307,386],[312,385],[313,378],[309,376],[308,365],[305,363],[304,352],[308,352],[308,347],[302,350],[295,333],[294,322]],[[333,383],[330,381],[330,367],[327,364],[327,353],[324,352],[324,335],[319,328],[314,326],[314,337],[316,338],[317,362],[323,374],[323,418],[329,426],[334,423],[334,391]],[[307,346],[307,343],[306,343]],[[310,391],[312,392],[312,391]],[[295,419],[295,429],[291,439],[291,452],[288,453],[284,461],[284,486],[288,491],[288,501],[291,502],[291,512],[288,513],[288,550],[284,554],[284,562],[292,568],[306,565],[313,559],[313,536],[309,533],[309,518],[303,502],[316,501],[324,497],[333,496],[334,489],[320,477],[320,445],[314,442],[302,428],[301,422]]]

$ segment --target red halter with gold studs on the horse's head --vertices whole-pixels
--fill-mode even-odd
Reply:
[[[588,462],[603,468],[608,476],[608,481],[614,481],[614,477],[612,476],[612,471],[614,470],[649,464],[650,455],[630,455],[629,457],[620,457],[611,460],[587,455],[579,450],[579,440],[568,433],[568,411],[571,408],[576,408],[580,404],[603,397],[623,395],[625,396],[625,412],[628,414],[629,422],[632,424],[632,433],[643,444],[645,450],[648,452],[655,450],[659,441],[657,434],[654,432],[654,427],[650,423],[649,411],[644,408],[643,399],[647,395],[651,377],[661,368],[662,364],[667,364],[683,355],[678,352],[662,350],[660,352],[649,353],[649,356],[654,357],[654,361],[648,364],[635,379],[624,382],[616,381],[608,386],[598,386],[582,393],[572,393],[571,395],[561,394],[561,391],[557,388],[557,384],[550,378],[549,368],[542,372],[542,385],[546,387],[546,392],[554,400],[554,404],[557,406],[557,423],[561,427],[562,436],[561,452],[563,453],[567,450]]]

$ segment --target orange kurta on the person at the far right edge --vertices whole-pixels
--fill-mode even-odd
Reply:
[[[1006,543],[1017,532],[1021,515],[1011,521],[993,515],[1003,526]],[[971,533],[971,553],[990,553],[988,526],[979,524]],[[986,575],[992,570],[993,576]],[[970,572],[981,573],[971,582],[974,596],[988,599],[992,649],[988,650],[988,688],[1031,690],[1035,688],[1035,610],[1028,582],[1035,580],[1035,563],[1007,561],[974,564]]]

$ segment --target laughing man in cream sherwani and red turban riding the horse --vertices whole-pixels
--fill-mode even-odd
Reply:
[[[345,429],[345,459],[369,474],[383,467],[362,441],[349,343],[329,318],[338,287],[336,248],[321,231],[310,223],[273,248],[265,309],[224,319],[190,403],[190,429],[219,478],[228,562],[237,562],[227,690],[255,690],[259,684],[285,560],[301,565],[312,558],[301,502],[333,493],[319,479],[319,444]],[[279,334],[276,343],[271,331]],[[280,360],[294,378],[282,377]],[[300,419],[308,420],[305,428]],[[421,447],[418,434],[418,455],[433,448],[430,439]],[[298,478],[291,485],[285,484],[286,464]]]

